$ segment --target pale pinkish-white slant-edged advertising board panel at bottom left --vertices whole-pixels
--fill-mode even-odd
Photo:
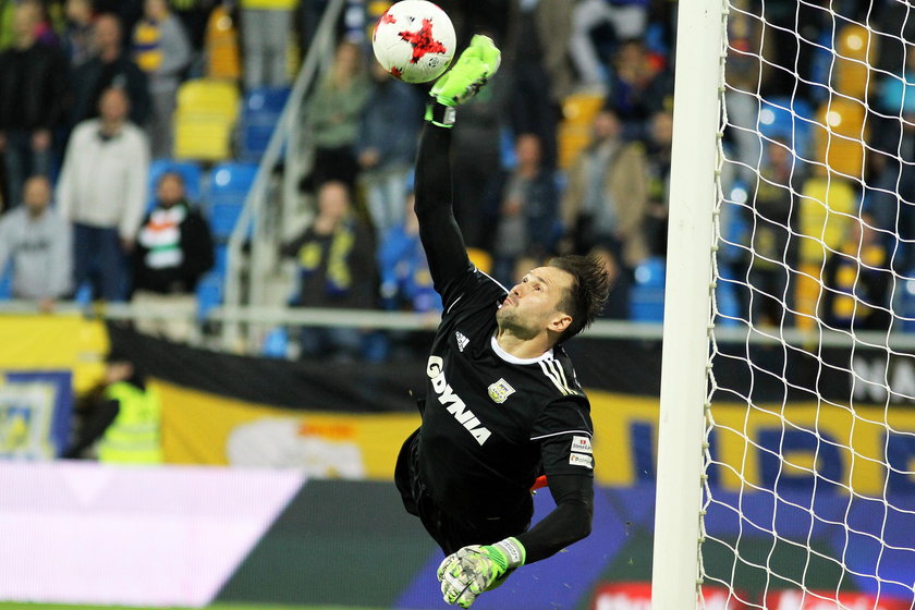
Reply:
[[[206,606],[303,484],[289,471],[0,461],[0,600]]]

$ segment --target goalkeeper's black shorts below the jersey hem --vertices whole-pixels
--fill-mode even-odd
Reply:
[[[517,536],[530,526],[530,513],[492,518],[449,514],[432,499],[419,474],[419,429],[404,441],[394,468],[394,483],[406,512],[419,517],[426,532],[451,554],[467,545],[490,545]]]

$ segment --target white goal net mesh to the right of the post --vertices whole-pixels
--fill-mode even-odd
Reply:
[[[725,0],[708,607],[915,608],[915,8]]]

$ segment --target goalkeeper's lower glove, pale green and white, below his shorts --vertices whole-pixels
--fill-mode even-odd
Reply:
[[[444,601],[469,608],[479,594],[495,589],[515,568],[524,565],[525,556],[515,538],[464,547],[448,556],[438,569]]]

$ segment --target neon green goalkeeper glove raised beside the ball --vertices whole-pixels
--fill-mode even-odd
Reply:
[[[426,109],[426,120],[441,127],[454,124],[453,108],[474,97],[496,74],[501,61],[502,52],[491,38],[474,36],[454,65],[432,85],[429,95],[438,103]]]

